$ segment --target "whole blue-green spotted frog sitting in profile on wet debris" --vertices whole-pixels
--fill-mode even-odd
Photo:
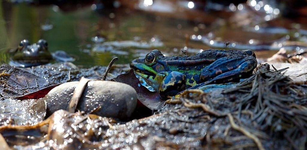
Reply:
[[[160,92],[173,96],[186,88],[209,81],[226,83],[249,77],[257,60],[251,50],[205,50],[194,56],[165,57],[152,50],[145,57],[134,59],[130,67]]]

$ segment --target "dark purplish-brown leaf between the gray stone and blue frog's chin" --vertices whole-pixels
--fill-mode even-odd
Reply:
[[[144,87],[138,78],[135,77],[133,69],[130,69],[128,73],[120,74],[113,78],[113,80],[132,86],[137,92],[138,100],[151,110],[157,110],[164,104],[164,101],[160,98],[159,92],[151,92]]]

